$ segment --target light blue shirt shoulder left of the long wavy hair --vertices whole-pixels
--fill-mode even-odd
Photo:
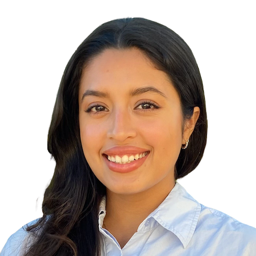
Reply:
[[[23,245],[28,242],[29,232],[26,231],[26,228],[35,224],[39,219],[27,223],[18,229],[15,233],[13,233],[0,252],[0,256],[19,256]]]

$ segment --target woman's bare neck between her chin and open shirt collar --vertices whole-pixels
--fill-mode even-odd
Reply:
[[[116,194],[107,188],[104,226],[113,233],[118,230],[136,232],[140,223],[164,201],[174,186],[175,180],[170,178],[130,195]]]

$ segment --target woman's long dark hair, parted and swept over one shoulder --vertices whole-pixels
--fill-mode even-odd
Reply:
[[[173,82],[183,120],[195,106],[200,117],[186,150],[181,150],[175,179],[194,170],[202,159],[207,136],[203,83],[193,53],[169,28],[144,18],[122,18],[104,23],[77,48],[63,73],[48,135],[48,151],[56,161],[45,191],[43,217],[27,227],[33,238],[24,256],[90,255],[100,253],[98,208],[105,186],[84,157],[78,122],[78,90],[82,70],[108,48],[136,47]]]

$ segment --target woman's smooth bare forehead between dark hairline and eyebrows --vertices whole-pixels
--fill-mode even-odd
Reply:
[[[129,93],[138,87],[152,86],[173,94],[174,87],[169,77],[158,70],[154,63],[139,49],[106,49],[84,68],[79,98],[86,90],[99,90],[109,94]],[[131,95],[131,94],[130,94]]]

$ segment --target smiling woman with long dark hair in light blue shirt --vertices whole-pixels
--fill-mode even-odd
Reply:
[[[143,18],[101,25],[60,82],[44,215],[1,256],[253,255],[256,229],[177,182],[199,164],[206,135],[203,84],[183,39]]]

